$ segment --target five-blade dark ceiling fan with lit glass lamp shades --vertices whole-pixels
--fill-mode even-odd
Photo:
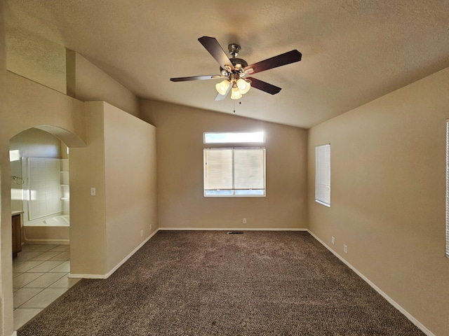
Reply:
[[[269,70],[278,66],[299,62],[301,60],[301,52],[297,50],[291,50],[281,55],[277,55],[263,61],[250,64],[245,59],[237,58],[237,54],[240,51],[240,45],[231,43],[227,46],[232,58],[227,57],[225,50],[222,49],[218,41],[209,36],[203,36],[198,38],[198,41],[208,50],[210,55],[220,64],[220,75],[208,75],[208,76],[192,76],[192,77],[177,77],[170,78],[172,82],[184,82],[187,80],[206,80],[206,79],[218,79],[224,80],[215,85],[217,89],[217,97],[215,100],[223,100],[231,91],[231,99],[240,99],[242,94],[246,94],[250,90],[250,87],[262,90],[269,94],[276,94],[281,91],[281,87],[269,84],[262,80],[258,80],[253,77],[246,77],[249,74]]]

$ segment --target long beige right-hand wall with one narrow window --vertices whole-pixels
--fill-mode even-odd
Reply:
[[[309,131],[309,229],[435,335],[449,330],[448,92],[445,69]],[[330,208],[314,202],[314,147],[326,143]]]

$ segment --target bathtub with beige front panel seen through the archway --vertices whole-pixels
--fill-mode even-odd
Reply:
[[[23,223],[25,244],[70,244],[70,217],[59,215]]]

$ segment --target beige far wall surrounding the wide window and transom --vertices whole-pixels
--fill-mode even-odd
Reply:
[[[146,100],[141,113],[157,127],[159,227],[307,228],[307,130]],[[256,130],[267,197],[203,197],[203,132]]]

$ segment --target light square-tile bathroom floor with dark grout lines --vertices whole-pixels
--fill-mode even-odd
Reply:
[[[36,314],[80,279],[69,279],[69,245],[24,245],[13,258],[14,329]]]

